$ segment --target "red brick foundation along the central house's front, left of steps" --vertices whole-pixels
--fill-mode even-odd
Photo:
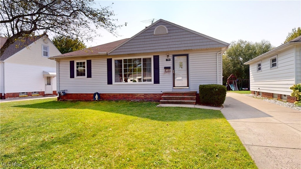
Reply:
[[[160,101],[163,94],[103,94],[100,93],[101,100],[151,100]],[[58,100],[60,97],[57,98]],[[61,100],[93,100],[92,94],[74,94],[67,93],[61,96]]]

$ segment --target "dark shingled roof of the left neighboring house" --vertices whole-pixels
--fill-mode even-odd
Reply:
[[[9,47],[7,49],[5,49],[3,55],[0,56],[0,60],[5,60],[5,59],[11,57],[18,51],[21,51],[22,49],[26,48],[26,46],[32,44],[33,42],[37,41],[39,38],[42,38],[43,36],[45,36],[45,35],[43,34],[43,35],[38,35],[38,36],[30,37],[30,38],[24,38],[22,40],[19,39],[19,40],[15,41],[13,44],[9,45]],[[5,41],[6,41],[6,38],[1,37],[1,47],[5,43]]]

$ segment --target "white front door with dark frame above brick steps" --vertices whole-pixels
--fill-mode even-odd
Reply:
[[[188,88],[188,54],[173,55],[173,87]]]

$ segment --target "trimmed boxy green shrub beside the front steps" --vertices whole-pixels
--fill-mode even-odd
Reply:
[[[227,88],[220,84],[201,84],[199,92],[201,104],[222,106],[226,99]]]

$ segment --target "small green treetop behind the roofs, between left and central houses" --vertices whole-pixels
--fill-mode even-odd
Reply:
[[[80,41],[78,38],[68,38],[63,35],[55,36],[52,42],[62,54],[87,48],[84,41]]]

